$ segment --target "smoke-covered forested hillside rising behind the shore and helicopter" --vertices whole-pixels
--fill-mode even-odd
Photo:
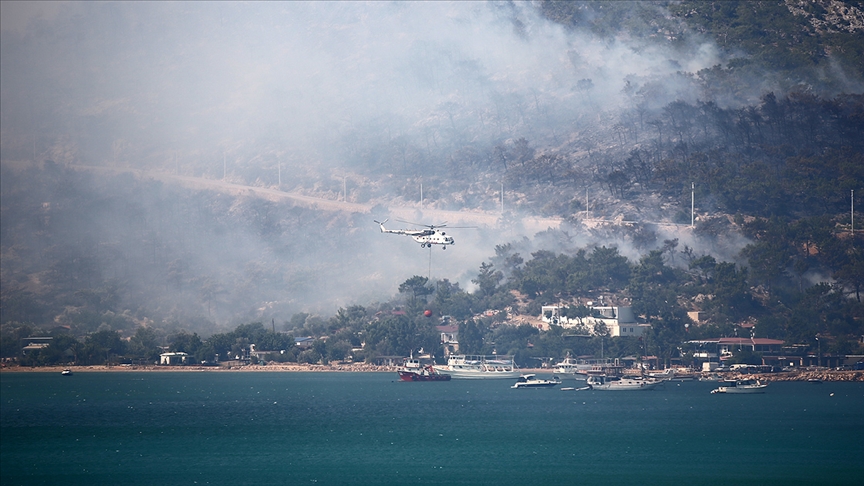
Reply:
[[[602,338],[500,324],[601,295],[652,325],[611,355],[742,324],[864,352],[860,2],[52,8],[0,43],[3,356],[366,359],[437,348],[449,315],[528,363]],[[427,253],[377,233],[389,207],[503,213]]]

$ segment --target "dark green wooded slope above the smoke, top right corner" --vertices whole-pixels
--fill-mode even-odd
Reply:
[[[864,74],[860,18],[844,15],[844,9],[860,8],[860,3],[792,3],[544,1],[540,8],[562,25],[607,38],[628,35],[673,45],[709,38],[737,58],[737,68],[788,76],[791,83],[830,83],[820,71],[834,61]]]

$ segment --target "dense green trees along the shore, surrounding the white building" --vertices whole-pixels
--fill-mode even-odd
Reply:
[[[788,248],[782,243],[795,244],[782,241],[782,238],[793,237],[793,233],[783,233],[787,227],[777,221],[746,226],[754,236],[757,232],[773,231],[775,238],[768,246],[758,242],[745,248],[744,253],[750,255],[751,268],[776,265],[778,260],[783,261],[783,252]],[[433,286],[425,277],[414,276],[399,287],[403,299],[370,307],[342,308],[329,320],[296,314],[283,326],[290,333],[275,332],[275,324],[270,330],[261,323],[253,323],[202,340],[197,333],[185,330],[167,333],[159,328],[138,327],[125,341],[121,339],[120,330],[103,322],[102,329],[89,334],[82,343],[66,329],[55,329],[52,332],[54,342],[42,351],[31,353],[24,362],[153,362],[161,352],[160,344],[171,351],[187,352],[199,361],[244,356],[253,344],[257,350],[276,351],[269,356],[271,360],[301,363],[364,360],[418,352],[442,356],[435,325],[443,315],[458,323],[461,351],[515,354],[523,365],[536,364],[533,359],[567,353],[602,353],[605,356],[654,353],[667,362],[671,358],[687,361],[686,351],[681,348],[683,341],[737,335],[739,329],[745,332],[740,327],[742,324],[755,324],[751,332],[759,337],[810,346],[816,345],[821,337],[820,346],[824,352],[860,354],[864,352],[859,340],[864,331],[864,305],[857,295],[858,287],[854,287],[856,283],[860,287],[864,275],[860,252],[851,248],[849,238],[823,237],[826,239],[821,241],[808,239],[808,247],[814,250],[812,259],[798,260],[804,263],[786,261],[785,265],[792,269],[817,265],[825,271],[833,271],[838,277],[837,284],[809,286],[801,282],[800,275],[793,279],[782,270],[774,274],[749,271],[734,263],[717,262],[711,256],[696,256],[688,248],[679,251],[676,241],[665,242],[664,249],[651,251],[635,263],[618,254],[615,248],[606,247],[595,247],[590,252],[580,249],[573,255],[538,251],[523,262],[514,246],[507,244],[496,248],[496,256],[491,259],[495,263],[481,265],[474,280],[478,289],[471,293],[447,280],[434,282]],[[835,245],[831,253],[819,251],[829,245]],[[788,260],[788,255],[786,258]],[[685,261],[686,266],[668,264],[675,259]],[[496,265],[500,265],[501,270]],[[504,277],[505,272],[509,277]],[[845,290],[843,282],[848,283]],[[850,288],[856,289],[856,295],[851,298]],[[503,325],[508,311],[536,316],[542,304],[574,302],[578,306],[585,299],[602,294],[632,299],[636,312],[652,324],[647,335],[643,339],[606,339],[603,330],[595,330],[599,332],[593,338],[585,339],[572,336],[572,332],[558,326],[541,332],[529,325]],[[529,297],[524,301],[524,309],[519,307],[517,296]],[[392,311],[397,308],[401,310]],[[500,312],[483,312],[488,309]],[[685,326],[690,322],[686,311],[693,309],[703,311],[708,324]],[[28,324],[4,324],[4,356],[17,355],[20,339],[36,331]],[[295,347],[292,337],[300,335],[318,339],[310,349],[301,350]]]

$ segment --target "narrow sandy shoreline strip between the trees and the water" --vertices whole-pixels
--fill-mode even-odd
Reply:
[[[191,373],[191,372],[264,372],[264,373],[395,373],[400,367],[371,365],[367,363],[350,363],[336,365],[309,364],[268,364],[243,366],[165,366],[165,365],[91,365],[91,366],[3,366],[0,373],[57,373],[64,369],[72,373],[124,373],[124,372],[157,372],[157,373]],[[523,373],[555,374],[550,369],[521,368]],[[773,381],[821,381],[821,382],[864,382],[864,371],[836,370],[800,370],[782,373],[741,374],[730,373],[724,379],[757,379],[764,382]]]

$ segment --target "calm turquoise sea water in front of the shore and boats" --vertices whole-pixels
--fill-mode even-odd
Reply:
[[[0,483],[864,484],[864,383],[511,384],[4,372]]]

